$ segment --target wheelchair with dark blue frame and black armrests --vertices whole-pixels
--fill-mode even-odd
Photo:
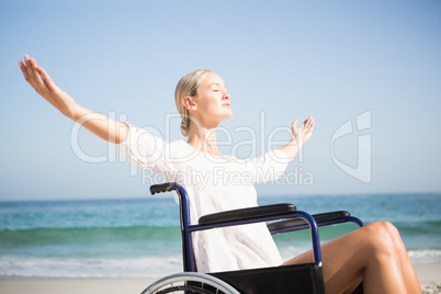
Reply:
[[[318,227],[348,222],[360,227],[363,226],[362,220],[351,216],[346,211],[309,215],[297,211],[294,204],[272,204],[204,215],[199,219],[197,225],[191,225],[189,197],[183,186],[176,182],[150,186],[151,194],[171,191],[176,191],[179,197],[183,272],[156,281],[142,294],[323,294],[325,293],[325,283]],[[206,274],[197,273],[191,241],[193,231],[260,222],[272,222],[268,224],[268,229],[272,235],[310,229],[314,262]],[[353,293],[363,293],[362,283]]]

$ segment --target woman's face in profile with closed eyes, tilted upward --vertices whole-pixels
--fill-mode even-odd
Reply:
[[[231,117],[230,97],[219,76],[214,72],[205,74],[194,98],[196,110],[193,115],[202,124],[218,124]]]

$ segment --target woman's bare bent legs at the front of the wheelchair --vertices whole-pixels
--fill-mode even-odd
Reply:
[[[396,228],[373,223],[321,245],[327,293],[351,293],[363,281],[369,293],[421,293]],[[312,251],[285,263],[313,261]]]

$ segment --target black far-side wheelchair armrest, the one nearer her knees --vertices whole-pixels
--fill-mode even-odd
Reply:
[[[347,216],[351,216],[349,212],[346,211],[338,211],[338,212],[330,212],[330,213],[321,213],[321,214],[315,214],[313,217],[316,219],[317,225],[327,225],[329,223],[332,224],[331,220],[338,220],[341,218],[344,218]],[[308,227],[308,224],[302,219],[302,218],[294,218],[294,219],[287,219],[287,220],[281,220],[281,222],[275,222],[272,224],[268,225],[268,229],[270,231],[275,231],[275,230],[296,230],[296,227],[298,229],[303,229],[304,227]],[[305,227],[305,228],[306,228]]]

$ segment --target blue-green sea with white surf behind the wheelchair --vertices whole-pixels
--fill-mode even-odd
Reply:
[[[415,263],[441,262],[441,193],[263,196],[310,214],[348,211],[388,220]],[[323,227],[321,242],[357,226]],[[274,236],[284,259],[310,249],[309,233]],[[171,194],[145,199],[0,202],[0,279],[154,278],[182,271]]]

